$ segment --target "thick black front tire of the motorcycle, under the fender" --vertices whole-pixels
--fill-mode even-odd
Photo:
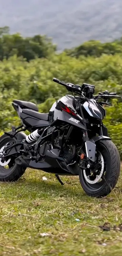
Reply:
[[[92,197],[104,197],[107,196],[112,191],[112,189],[114,189],[118,181],[120,175],[120,156],[114,143],[108,139],[102,139],[97,142],[96,152],[99,152],[99,155],[101,155],[102,159],[104,160],[104,170],[102,170],[101,167],[101,178],[98,182],[96,179],[96,183],[95,179],[94,182],[91,182],[87,178],[90,175],[85,175],[85,170],[83,171],[83,169],[79,167],[79,179],[81,186],[87,195]],[[86,173],[88,173],[88,170],[86,171]],[[100,177],[100,175],[97,176],[98,178]],[[92,179],[93,178],[91,178],[91,180]]]

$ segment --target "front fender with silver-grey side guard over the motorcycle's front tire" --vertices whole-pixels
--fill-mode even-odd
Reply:
[[[87,157],[95,162],[95,152],[96,152],[96,142],[101,140],[101,139],[111,139],[110,137],[107,137],[107,136],[94,136],[92,139],[90,140],[87,140],[85,142],[85,148],[86,148],[86,154],[87,154]]]

